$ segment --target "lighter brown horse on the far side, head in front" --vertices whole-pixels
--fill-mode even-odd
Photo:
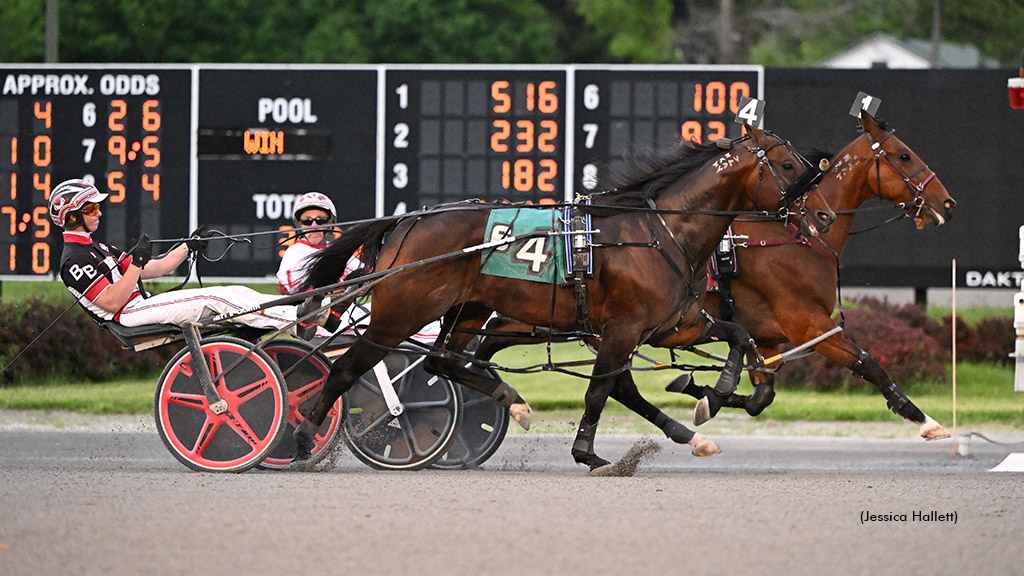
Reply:
[[[783,344],[801,344],[836,328],[831,318],[837,303],[836,263],[846,246],[857,207],[871,198],[884,198],[913,217],[919,230],[942,225],[952,217],[956,202],[935,172],[893,135],[893,130],[866,112],[861,113],[860,124],[862,134],[835,156],[818,184],[818,191],[839,214],[827,234],[804,244],[794,242],[793,236],[779,227],[740,220],[733,223],[735,235],[749,237],[749,248],[739,250],[737,259],[742,272],[730,281],[735,308],[732,318],[750,331],[766,358],[776,356]],[[827,249],[815,246],[813,242],[817,241]],[[761,247],[762,242],[767,246]],[[728,319],[718,298],[709,298],[705,308],[716,318]],[[836,334],[814,349],[874,384],[894,413],[920,426],[923,438],[949,436],[845,334]],[[711,412],[717,411],[715,405],[725,405],[745,408],[756,416],[775,396],[774,378],[770,373],[752,372],[751,379],[755,392],[749,398],[724,399],[692,385],[688,392],[707,398]]]

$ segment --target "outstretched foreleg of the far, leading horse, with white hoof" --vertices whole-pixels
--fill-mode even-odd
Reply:
[[[871,355],[857,346],[845,334],[837,334],[815,346],[814,349],[874,384],[874,387],[879,388],[879,392],[885,397],[889,409],[904,420],[918,424],[921,437],[925,440],[949,438],[949,433],[931,416],[922,412],[889,377],[878,361],[871,358]]]

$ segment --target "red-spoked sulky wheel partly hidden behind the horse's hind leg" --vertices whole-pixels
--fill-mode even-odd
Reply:
[[[321,353],[310,354],[312,346],[299,340],[279,338],[270,340],[263,346],[263,352],[273,360],[285,375],[288,385],[288,425],[278,447],[263,459],[260,467],[287,469],[295,458],[295,439],[292,433],[312,409],[313,400],[324,381],[331,373],[331,361]],[[345,397],[342,396],[327,414],[324,423],[316,433],[316,444],[309,459],[315,464],[331,454],[341,435],[341,416],[344,410]]]

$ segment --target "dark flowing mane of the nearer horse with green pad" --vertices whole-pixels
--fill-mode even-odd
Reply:
[[[688,140],[657,150],[634,151],[608,166],[606,175],[597,182],[596,190],[601,192],[594,193],[594,204],[646,208],[647,201],[656,198],[670,183],[722,152],[716,143]]]

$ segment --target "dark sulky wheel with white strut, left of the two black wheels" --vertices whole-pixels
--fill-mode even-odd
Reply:
[[[394,352],[367,372],[345,393],[345,442],[356,458],[371,467],[415,470],[440,458],[455,438],[461,409],[460,394],[451,380],[423,369],[417,352]],[[401,413],[388,408],[378,375],[394,379]]]

